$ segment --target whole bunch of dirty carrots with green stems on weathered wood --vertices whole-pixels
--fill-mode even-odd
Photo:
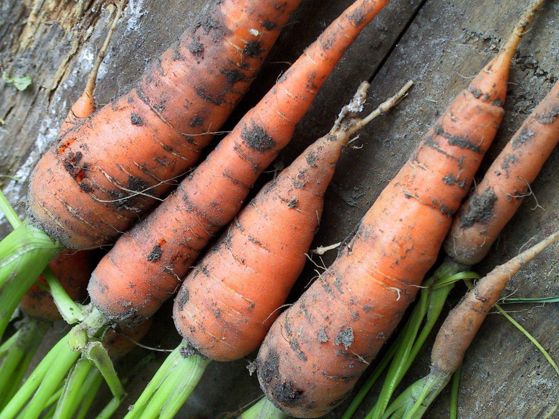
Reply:
[[[458,368],[508,279],[559,238],[549,236],[480,280],[439,332],[432,373],[389,406],[433,327],[430,319],[418,336],[428,293],[436,292],[432,285],[437,279],[447,284],[439,292],[446,297],[452,284],[448,278],[487,254],[559,141],[557,84],[462,203],[503,118],[511,60],[544,2],[534,0],[499,54],[423,137],[334,263],[280,314],[304,267],[344,146],[394,107],[412,83],[360,117],[369,87],[363,83],[330,132],[244,208],[243,203],[259,175],[290,142],[345,51],[389,0],[354,1],[176,190],[164,201],[160,197],[195,165],[299,2],[209,1],[139,80],[97,112],[93,72],[93,82],[72,107],[58,142],[32,174],[27,220],[19,222],[2,203],[14,231],[0,242],[0,334],[18,304],[32,320],[0,347],[0,355],[9,354],[0,374],[5,370],[6,377],[17,381],[10,379],[10,391],[0,399],[0,419],[83,417],[94,395],[83,389],[92,383],[98,387],[102,378],[115,397],[101,416],[108,417],[125,395],[110,356],[131,349],[177,288],[173,318],[183,340],[130,407],[127,419],[174,417],[211,360],[239,359],[260,345],[254,366],[266,398],[244,417],[322,416],[347,397],[389,339],[446,243],[449,258],[435,272],[437,278],[426,281],[402,332],[413,336],[411,344],[396,340],[400,346],[391,350],[391,379],[371,412],[377,418],[419,418],[426,401],[437,396]],[[153,212],[132,226],[158,201]],[[197,260],[221,230],[221,237]],[[47,268],[62,249],[84,250],[115,239],[94,270],[91,264],[76,264],[55,272],[61,278],[79,272],[80,284],[59,282]],[[56,260],[84,263],[87,257],[80,251]],[[49,297],[34,285],[42,272],[48,283],[45,287],[42,282],[42,288],[51,291],[54,301],[34,310],[39,304],[30,301]],[[459,278],[467,277],[472,274]],[[91,302],[74,303],[85,298],[80,290],[88,279]],[[36,332],[26,329],[46,330],[45,321],[54,320],[56,313],[53,304],[75,325],[17,389],[33,349],[20,350],[16,341],[35,348],[31,337]],[[419,322],[413,322],[414,316]],[[131,330],[130,340],[115,335],[112,329],[119,327]],[[120,342],[124,349],[111,354],[113,340],[127,345]]]

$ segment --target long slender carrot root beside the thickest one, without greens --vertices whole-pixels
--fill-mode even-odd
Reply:
[[[239,212],[258,175],[362,28],[387,0],[358,0],[324,31],[208,158],[101,260],[89,295],[111,320],[151,316],[212,237]]]

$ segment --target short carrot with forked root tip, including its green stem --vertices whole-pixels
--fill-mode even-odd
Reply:
[[[362,119],[356,112],[369,88],[362,83],[329,134],[307,147],[239,213],[184,280],[173,309],[183,337],[177,360],[165,361],[127,419],[173,417],[209,360],[240,359],[258,347],[305,265],[342,147],[399,102],[411,84]],[[142,412],[146,399],[150,404]]]

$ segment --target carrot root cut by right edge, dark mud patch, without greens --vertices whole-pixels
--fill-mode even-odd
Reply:
[[[559,83],[514,134],[462,206],[444,248],[473,265],[489,252],[559,141]]]

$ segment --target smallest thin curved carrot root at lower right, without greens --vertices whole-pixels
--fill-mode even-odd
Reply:
[[[433,373],[451,375],[458,369],[468,346],[501,292],[519,270],[547,246],[559,240],[555,232],[530,249],[523,251],[482,278],[472,291],[454,307],[440,327],[431,353]]]

